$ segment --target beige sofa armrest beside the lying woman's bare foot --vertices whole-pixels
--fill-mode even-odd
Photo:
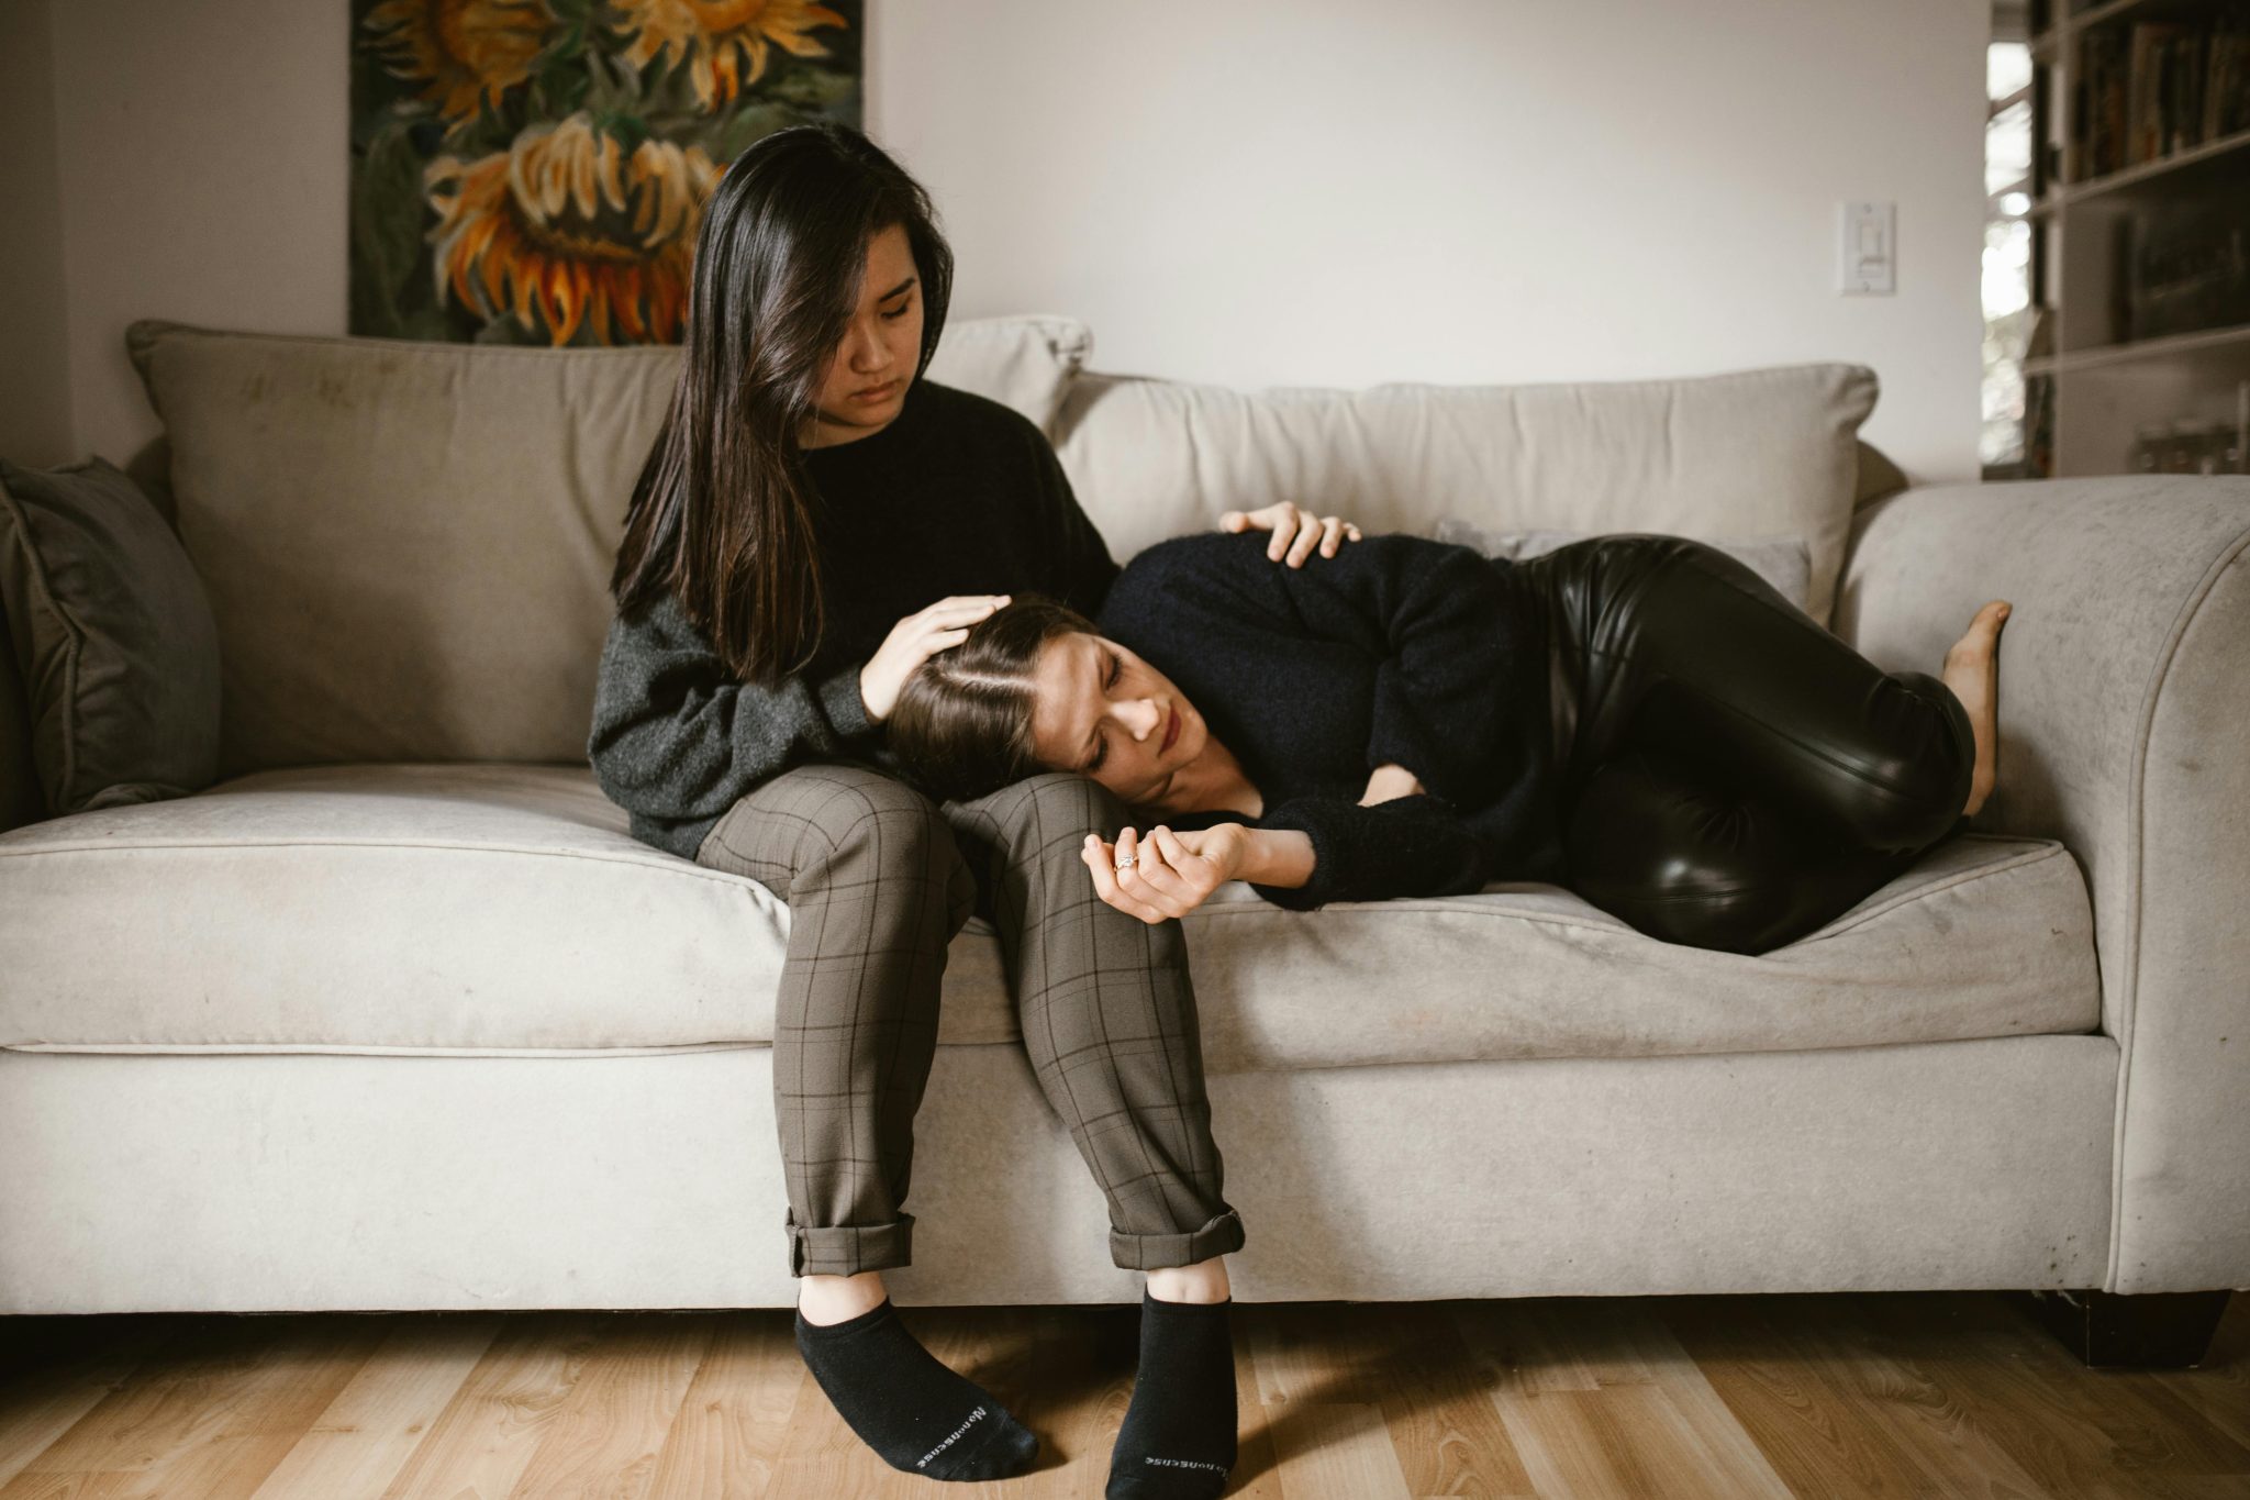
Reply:
[[[2250,479],[1908,488],[1852,526],[1836,632],[1935,672],[1987,598],[1976,828],[2086,870],[2117,1039],[2108,1291],[2250,1284]]]

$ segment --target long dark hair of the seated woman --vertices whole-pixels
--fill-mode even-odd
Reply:
[[[702,211],[680,380],[632,486],[610,596],[630,609],[670,589],[745,681],[772,684],[819,650],[817,493],[796,434],[857,308],[866,243],[891,225],[920,277],[920,380],[954,252],[929,193],[880,146],[826,121],[774,130]]]

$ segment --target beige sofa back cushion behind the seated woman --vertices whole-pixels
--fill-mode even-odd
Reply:
[[[583,762],[626,506],[677,346],[513,349],[137,322],[223,652],[218,776]],[[1053,418],[1064,317],[950,324],[929,378]]]

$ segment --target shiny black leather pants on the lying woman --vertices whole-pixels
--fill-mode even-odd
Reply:
[[[1962,825],[1976,738],[1735,558],[1672,535],[1519,567],[1548,607],[1570,888],[1638,931],[1793,942]]]

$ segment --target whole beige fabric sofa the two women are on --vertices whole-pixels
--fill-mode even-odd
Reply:
[[[585,765],[675,351],[130,342],[223,776],[38,816],[0,684],[0,1311],[788,1304],[790,913]],[[1809,609],[1926,670],[2016,603],[1978,832],[1773,954],[1555,886],[1190,918],[1242,1300],[2250,1284],[2250,481],[1904,486],[1856,364],[1242,394],[1089,346],[961,322],[932,376],[1120,560],[1280,497],[1802,537]],[[898,1295],[1134,1298],[981,924],[943,1043]]]

